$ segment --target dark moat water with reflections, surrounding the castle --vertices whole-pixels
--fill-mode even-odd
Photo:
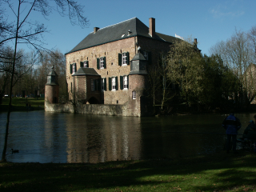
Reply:
[[[0,114],[1,154],[6,115]],[[236,116],[242,122],[238,133],[242,134],[254,114]],[[6,158],[9,162],[97,163],[214,154],[223,150],[225,117],[191,114],[138,118],[42,110],[12,112]],[[12,154],[11,149],[19,153]]]

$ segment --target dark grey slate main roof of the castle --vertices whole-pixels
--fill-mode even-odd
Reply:
[[[128,35],[128,30],[131,31],[130,35]],[[112,26],[106,26],[97,30],[96,33],[91,32],[82,40],[82,42],[79,42],[77,46],[66,54],[134,36],[152,38],[149,34],[149,27],[141,22],[138,18],[130,18],[124,22],[119,22],[118,24]],[[162,42],[174,43],[177,38],[165,34],[155,33],[154,39]]]

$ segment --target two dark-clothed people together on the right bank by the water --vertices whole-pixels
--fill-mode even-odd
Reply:
[[[254,121],[256,122],[256,114],[254,115]],[[256,140],[256,125],[254,121],[250,120],[249,125],[246,127],[246,130],[244,130],[244,133],[242,134],[242,138]],[[222,126],[226,130],[226,153],[230,153],[231,147],[233,152],[237,153],[236,143],[238,130],[241,128],[240,120],[232,113],[224,119]]]

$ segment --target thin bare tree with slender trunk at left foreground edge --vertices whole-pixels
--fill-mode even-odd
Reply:
[[[54,0],[56,5],[55,8],[52,6],[50,0],[18,0],[16,2],[11,0],[0,0],[0,2],[9,6],[10,13],[14,14],[15,16],[15,20],[13,22],[9,22],[10,28],[8,30],[2,30],[3,34],[1,34],[1,37],[4,38],[0,39],[0,46],[3,46],[11,41],[14,42],[14,54],[12,57],[13,60],[10,77],[10,102],[7,113],[5,142],[2,151],[2,162],[5,162],[10,122],[11,94],[14,83],[14,71],[17,61],[18,44],[26,43],[31,48],[34,48],[34,50],[46,50],[43,47],[44,42],[42,41],[42,34],[47,32],[46,27],[42,23],[31,20],[30,14],[35,11],[41,13],[44,17],[47,17],[53,10],[56,10],[63,16],[68,15],[72,24],[79,24],[80,26],[86,26],[88,24],[88,20],[82,15],[83,7],[73,0]],[[78,22],[76,23],[76,21]]]

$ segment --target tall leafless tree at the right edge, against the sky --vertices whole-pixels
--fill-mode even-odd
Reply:
[[[253,39],[253,36],[251,36]],[[254,70],[250,70],[250,64],[254,61],[254,51],[251,49],[252,42],[249,36],[243,32],[235,30],[235,33],[226,40],[226,42],[218,42],[211,47],[211,54],[221,56],[224,64],[233,70],[239,79],[241,88],[237,95],[242,106],[247,106],[255,97],[255,83],[250,78],[254,75]],[[250,78],[250,81],[248,81]]]

